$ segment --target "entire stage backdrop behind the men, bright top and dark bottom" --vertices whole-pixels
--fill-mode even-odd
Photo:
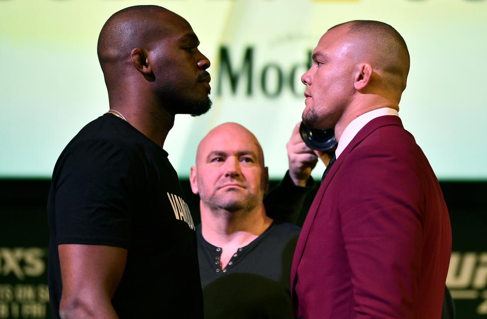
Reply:
[[[0,0],[0,319],[50,318],[49,178],[69,140],[108,110],[96,42],[111,14],[137,4],[185,17],[212,63],[212,110],[178,115],[165,145],[195,223],[198,198],[186,178],[209,130],[226,121],[248,127],[275,182],[287,169],[285,143],[304,108],[300,77],[320,36],[354,19],[396,27],[411,55],[399,114],[450,210],[446,283],[458,318],[487,317],[487,0]]]

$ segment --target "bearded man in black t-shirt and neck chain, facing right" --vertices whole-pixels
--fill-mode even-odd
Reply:
[[[201,318],[196,235],[163,149],[175,114],[211,105],[189,23],[135,6],[103,26],[110,110],[62,151],[48,200],[52,315]]]

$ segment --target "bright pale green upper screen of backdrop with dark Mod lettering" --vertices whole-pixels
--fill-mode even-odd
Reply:
[[[304,108],[301,75],[331,26],[392,24],[411,54],[399,112],[438,177],[487,179],[487,0],[0,0],[0,176],[49,177],[57,156],[108,110],[96,42],[115,11],[156,4],[185,17],[211,60],[213,109],[178,115],[165,149],[189,175],[201,138],[235,121],[264,147],[271,177]],[[316,173],[316,177],[319,173]]]

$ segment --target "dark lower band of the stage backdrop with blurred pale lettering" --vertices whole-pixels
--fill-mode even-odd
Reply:
[[[457,318],[485,319],[487,182],[440,184],[450,212],[453,234],[446,284],[456,304]],[[49,185],[49,180],[0,180],[0,319],[51,318],[47,290],[49,232],[46,198]],[[181,180],[181,185],[194,224],[198,225],[199,198],[191,194],[187,179]],[[316,189],[307,196],[299,226],[315,192]]]

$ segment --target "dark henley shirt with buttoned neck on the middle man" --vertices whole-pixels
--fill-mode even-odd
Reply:
[[[198,226],[205,319],[295,318],[289,281],[299,232],[294,225],[274,220],[220,270],[221,248],[207,242]]]

